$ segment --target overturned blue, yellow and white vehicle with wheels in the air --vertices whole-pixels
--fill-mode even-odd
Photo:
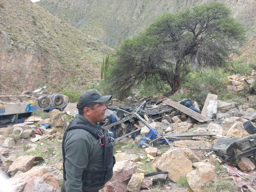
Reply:
[[[46,88],[46,86],[42,87]],[[24,91],[22,94],[0,95],[0,124],[21,122],[22,117],[28,117],[32,112],[42,109],[51,111],[63,110],[68,104],[68,96],[50,94],[38,88],[33,92]]]

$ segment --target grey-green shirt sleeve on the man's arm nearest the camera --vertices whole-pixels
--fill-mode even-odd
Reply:
[[[82,192],[82,173],[88,165],[90,148],[90,142],[84,138],[65,143],[66,192]]]

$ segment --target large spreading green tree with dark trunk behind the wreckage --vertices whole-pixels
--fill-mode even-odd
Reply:
[[[163,14],[118,48],[111,72],[113,91],[126,93],[140,84],[160,87],[168,82],[174,93],[188,69],[223,67],[243,39],[241,25],[218,2]]]

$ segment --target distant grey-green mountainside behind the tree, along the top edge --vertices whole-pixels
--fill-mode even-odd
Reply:
[[[213,0],[40,0],[36,4],[82,32],[115,47],[134,36],[164,12],[176,13],[188,6]],[[248,39],[256,32],[255,0],[217,0],[232,9],[244,24]]]

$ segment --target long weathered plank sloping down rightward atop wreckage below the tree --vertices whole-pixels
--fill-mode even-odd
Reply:
[[[202,115],[200,115],[199,113],[193,111],[192,109],[190,108],[187,108],[186,106],[182,105],[182,104],[179,104],[171,99],[167,99],[165,101],[163,101],[165,104],[168,104],[178,110],[180,110],[181,112],[184,112],[185,114],[187,114],[188,116],[198,120],[199,122],[205,122],[208,120],[207,117],[204,117]]]

